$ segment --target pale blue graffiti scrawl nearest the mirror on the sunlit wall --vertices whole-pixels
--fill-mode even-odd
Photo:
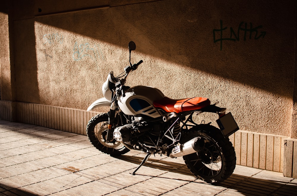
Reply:
[[[91,46],[89,43],[78,44],[76,41],[73,47],[72,58],[75,61],[79,61],[84,57],[89,57],[94,61],[98,59],[104,59],[99,44],[94,44]]]

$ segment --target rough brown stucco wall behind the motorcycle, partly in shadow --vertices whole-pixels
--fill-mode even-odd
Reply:
[[[127,45],[133,40],[132,62],[144,62],[127,85],[155,86],[171,98],[219,101],[232,112],[240,133],[265,136],[266,150],[273,136],[279,149],[275,164],[282,171],[279,138],[297,138],[296,1],[1,4],[1,95],[11,120],[24,121],[16,112],[23,110],[20,103],[86,110],[102,97],[107,73],[118,75],[128,65]],[[240,135],[237,154],[247,155],[248,137]]]

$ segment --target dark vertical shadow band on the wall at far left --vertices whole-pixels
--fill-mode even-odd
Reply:
[[[9,82],[12,100],[9,101],[39,103],[40,100],[37,81],[34,18],[30,18],[30,15],[33,15],[33,7],[30,7],[30,4],[33,3],[32,1],[1,2],[0,12],[6,13],[9,20],[9,29],[7,29],[9,43],[3,43],[9,44],[10,47],[8,55],[10,58],[11,80]],[[1,83],[2,91],[5,90],[4,86],[7,85]],[[6,97],[2,98],[5,99]]]

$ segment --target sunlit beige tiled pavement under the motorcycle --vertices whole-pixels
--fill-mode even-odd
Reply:
[[[297,179],[236,166],[218,185],[196,179],[182,158],[111,157],[86,136],[0,120],[0,195],[296,195]]]

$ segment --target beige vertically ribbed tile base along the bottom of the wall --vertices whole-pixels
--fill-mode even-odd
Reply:
[[[0,118],[3,120],[18,121],[83,135],[86,135],[88,121],[92,116],[98,114],[84,110],[22,102],[0,101],[0,106]],[[16,111],[15,117],[12,115],[14,110]],[[238,165],[283,172],[284,140],[287,137],[237,131],[229,138],[235,148]],[[297,148],[297,142],[293,147]],[[295,152],[292,150],[292,152],[296,154],[297,150]],[[285,157],[290,156],[291,159],[287,158],[285,161],[292,161],[292,153]],[[285,165],[287,164],[285,163]],[[293,168],[293,162],[291,165]]]

